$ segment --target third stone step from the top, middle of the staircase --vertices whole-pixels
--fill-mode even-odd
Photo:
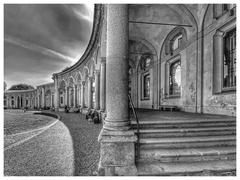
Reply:
[[[141,149],[219,147],[236,145],[236,136],[142,138],[139,142]]]

